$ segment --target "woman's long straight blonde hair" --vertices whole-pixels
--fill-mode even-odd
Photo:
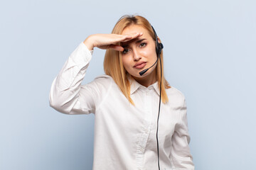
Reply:
[[[154,31],[151,28],[149,21],[142,16],[122,16],[117,21],[114,26],[112,33],[114,34],[122,34],[124,28],[127,28],[131,25],[142,26],[146,30],[149,31],[149,35],[156,41],[156,37],[154,35]],[[163,52],[161,52],[161,66],[160,62],[156,64],[156,80],[158,81],[158,86],[160,89],[160,79],[161,83],[161,101],[163,103],[167,103],[169,101],[168,96],[166,94],[166,89],[171,88],[169,83],[164,79],[164,61],[163,61]],[[161,77],[161,67],[162,67],[162,77]],[[104,60],[104,71],[105,74],[109,75],[114,79],[119,89],[122,91],[124,96],[129,100],[130,103],[134,105],[132,98],[130,96],[130,84],[128,80],[129,73],[124,69],[122,64],[122,53],[116,50],[108,49],[105,53]]]

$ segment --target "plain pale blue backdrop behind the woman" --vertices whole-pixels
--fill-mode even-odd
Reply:
[[[164,44],[196,169],[254,169],[254,0],[1,1],[0,169],[92,169],[94,115],[58,113],[48,94],[75,47],[124,14],[147,18]],[[83,84],[104,73],[104,54],[95,49]]]

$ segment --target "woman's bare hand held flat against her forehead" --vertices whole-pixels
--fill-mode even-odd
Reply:
[[[132,33],[129,35],[119,35],[119,34],[93,34],[84,40],[85,45],[89,50],[93,50],[94,47],[100,49],[113,49],[117,51],[123,51],[124,48],[117,45],[118,42],[127,42],[134,38],[142,36],[142,33]]]

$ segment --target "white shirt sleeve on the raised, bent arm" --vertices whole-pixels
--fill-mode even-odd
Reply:
[[[106,77],[81,85],[92,58],[83,42],[71,53],[50,88],[50,106],[65,114],[95,113],[96,105],[106,93]]]

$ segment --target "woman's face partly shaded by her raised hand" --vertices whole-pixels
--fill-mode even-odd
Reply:
[[[124,68],[129,74],[137,81],[149,79],[154,83],[156,81],[156,72],[153,70],[156,68],[151,67],[156,62],[156,45],[155,41],[149,35],[148,30],[142,26],[132,25],[125,28],[122,35],[131,33],[143,33],[139,38],[130,40],[128,42],[122,42],[124,51],[122,52],[122,62]],[[142,76],[139,75],[144,69],[151,67]]]

